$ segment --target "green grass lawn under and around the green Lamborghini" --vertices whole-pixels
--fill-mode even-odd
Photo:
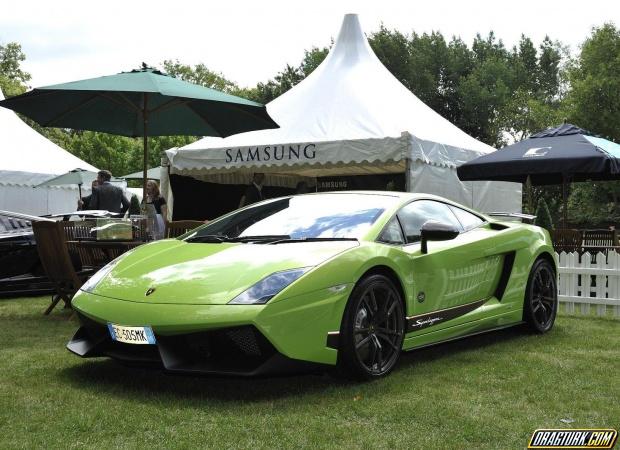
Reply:
[[[193,378],[83,360],[48,298],[0,300],[0,448],[525,448],[620,426],[620,320],[560,315],[407,353],[389,377]],[[570,424],[561,419],[572,419]]]

